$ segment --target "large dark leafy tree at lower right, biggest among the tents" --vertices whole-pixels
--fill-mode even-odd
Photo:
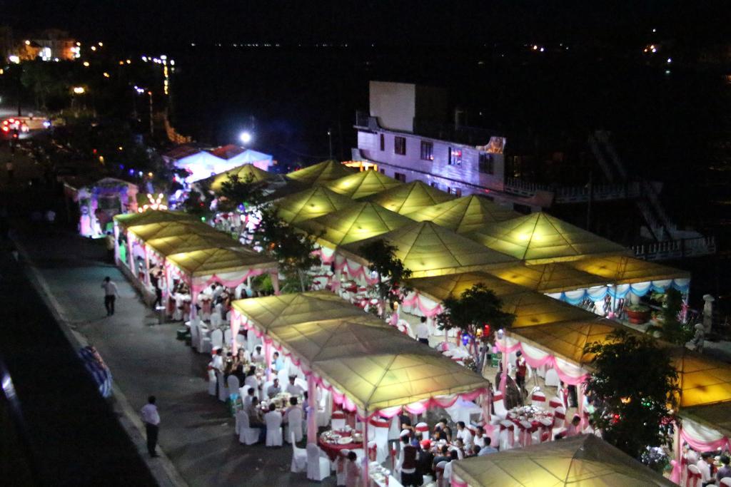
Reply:
[[[594,355],[585,386],[596,408],[591,418],[604,439],[635,459],[648,446],[668,444],[679,388],[667,348],[618,330],[605,343],[587,344],[584,352]]]

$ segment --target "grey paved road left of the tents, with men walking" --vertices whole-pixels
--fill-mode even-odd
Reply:
[[[179,323],[156,324],[118,269],[103,262],[105,250],[100,242],[66,232],[39,235],[37,229],[24,231],[20,241],[61,315],[102,354],[132,410],[139,410],[148,394],[158,397],[160,445],[186,483],[308,484],[306,475],[289,472],[290,448],[238,443],[224,404],[208,396],[208,358],[175,340]],[[107,275],[118,283],[121,293],[111,318],[105,316],[99,288]],[[141,437],[139,441],[141,448]],[[335,485],[334,480],[317,485]]]

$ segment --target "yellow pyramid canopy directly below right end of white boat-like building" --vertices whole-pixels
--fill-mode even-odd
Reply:
[[[416,221],[433,221],[463,234],[480,229],[486,223],[510,220],[520,214],[473,194],[425,207],[406,216]]]

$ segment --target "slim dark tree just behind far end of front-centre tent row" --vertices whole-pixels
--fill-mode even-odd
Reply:
[[[378,315],[384,318],[386,305],[393,310],[396,303],[404,300],[404,294],[408,291],[404,286],[404,280],[408,279],[412,272],[404,267],[395,256],[396,248],[388,244],[384,239],[376,239],[360,246],[360,255],[370,264],[368,270],[376,272],[376,292],[379,296]]]

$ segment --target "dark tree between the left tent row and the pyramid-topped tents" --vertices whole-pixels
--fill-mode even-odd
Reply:
[[[307,271],[320,264],[315,253],[317,237],[295,231],[288,223],[281,221],[276,210],[262,212],[262,221],[254,232],[254,240],[260,243],[265,252],[279,262],[281,272],[288,279],[296,278],[300,291],[307,291]]]

